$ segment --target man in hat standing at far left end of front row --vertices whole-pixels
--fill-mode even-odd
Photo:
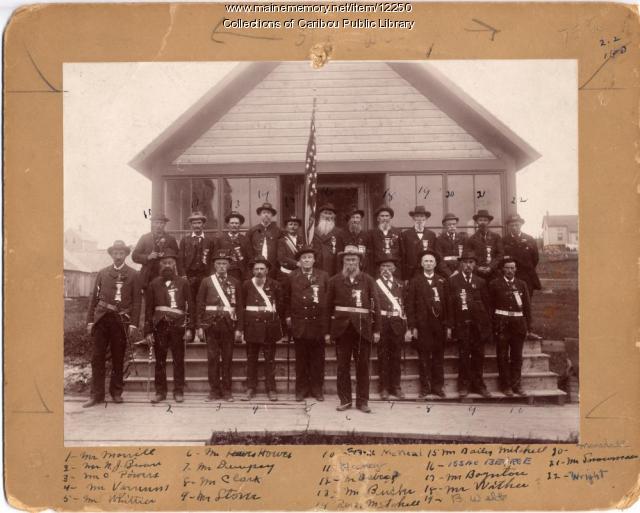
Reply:
[[[107,349],[111,351],[109,393],[114,403],[122,402],[124,355],[127,337],[136,332],[140,320],[138,273],[124,263],[131,249],[117,240],[107,249],[113,265],[98,272],[87,313],[87,332],[93,335],[91,398],[89,408],[104,402],[104,374]]]

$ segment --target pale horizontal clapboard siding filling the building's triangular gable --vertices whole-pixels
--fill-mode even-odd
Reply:
[[[386,63],[289,62],[175,164],[303,161],[314,98],[319,161],[495,158]]]

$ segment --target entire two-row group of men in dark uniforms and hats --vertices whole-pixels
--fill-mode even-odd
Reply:
[[[245,400],[257,388],[257,363],[264,359],[268,398],[278,399],[275,384],[276,342],[293,341],[295,394],[302,401],[324,400],[325,345],[335,343],[337,388],[344,411],[353,405],[351,361],[355,362],[356,408],[370,412],[372,344],[378,344],[379,393],[382,399],[405,397],[401,388],[403,342],[418,354],[419,399],[446,397],[444,349],[459,350],[458,394],[491,397],[483,381],[485,345],[497,347],[500,391],[525,395],[521,386],[522,349],[531,333],[531,293],[540,288],[535,240],[521,232],[524,220],[510,216],[508,235],[489,230],[486,210],[473,216],[477,225],[467,237],[459,219],[446,214],[437,235],[426,228],[423,206],[409,215],[414,226],[392,226],[394,211],[375,211],[376,227],[364,230],[364,211],[347,215],[347,229],[336,226],[336,209],[321,206],[311,245],[291,216],[280,228],[269,203],[256,213],[260,222],[240,233],[244,217],[230,212],[219,238],[205,233],[206,217],[194,212],[191,233],[180,243],[165,231],[169,221],[154,215],[152,230],[136,245],[132,259],[138,273],[124,263],[130,249],[116,241],[108,252],[113,265],[98,273],[88,313],[94,336],[91,398],[105,398],[105,355],[110,348],[109,392],[122,402],[127,341],[137,331],[144,304],[143,334],[155,351],[155,396],[167,397],[166,360],[173,358],[173,397],[184,400],[185,343],[207,345],[207,401],[233,401],[231,365],[235,343],[246,344]]]

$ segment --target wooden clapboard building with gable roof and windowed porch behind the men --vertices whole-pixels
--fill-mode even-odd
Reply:
[[[278,218],[304,208],[304,161],[317,101],[319,201],[342,215],[357,205],[372,227],[388,203],[394,224],[424,205],[429,226],[454,212],[473,230],[481,208],[494,229],[516,209],[515,173],[540,155],[432,66],[412,62],[239,64],[132,161],[152,180],[152,209],[180,235],[194,208],[207,229],[226,212],[247,223],[264,201]]]

